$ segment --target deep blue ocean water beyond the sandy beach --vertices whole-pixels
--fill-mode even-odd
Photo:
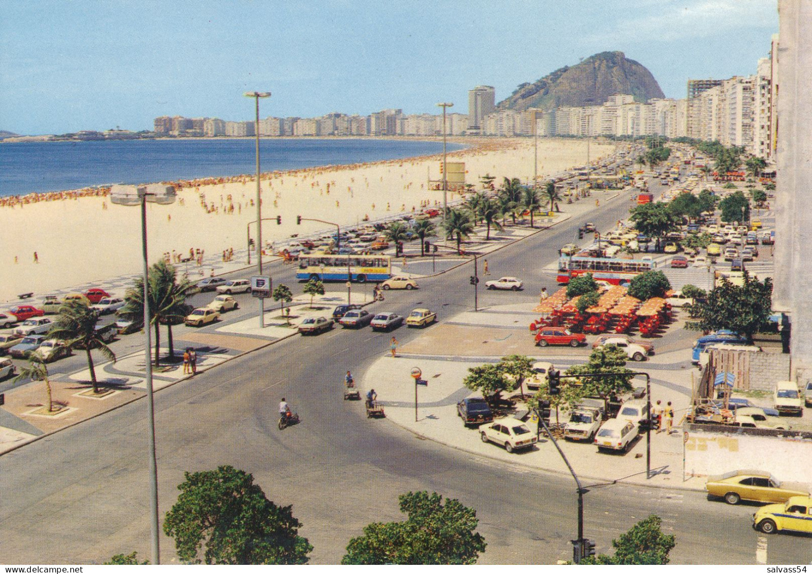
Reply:
[[[110,183],[152,183],[257,170],[255,140],[110,140],[0,144],[0,196]],[[448,144],[449,152],[463,145]],[[260,140],[262,171],[347,165],[443,152],[440,141]]]

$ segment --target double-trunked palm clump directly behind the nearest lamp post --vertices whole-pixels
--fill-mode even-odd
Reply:
[[[182,279],[178,283],[175,267],[165,261],[158,261],[150,267],[147,277],[149,281],[149,324],[155,326],[155,365],[159,365],[161,331],[158,327],[166,325],[169,356],[174,357],[172,325],[182,322],[192,309],[191,305],[186,304],[186,298],[193,295],[197,287],[187,279]],[[133,317],[144,317],[143,278],[136,278],[132,289],[127,290],[124,298],[127,300],[127,304],[123,307],[122,313],[132,314]]]

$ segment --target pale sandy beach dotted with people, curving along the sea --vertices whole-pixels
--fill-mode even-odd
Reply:
[[[482,187],[480,178],[486,174],[495,175],[497,184],[503,177],[533,179],[533,140],[460,141],[469,149],[449,153],[448,161],[465,162],[466,182],[476,189]],[[607,156],[613,149],[613,145],[592,144],[590,158]],[[539,177],[584,165],[586,155],[585,141],[539,140]],[[412,213],[412,208],[419,212],[421,205],[442,205],[443,192],[430,190],[427,183],[442,178],[441,161],[442,155],[435,155],[263,174],[262,217],[282,217],[281,225],[263,222],[263,240],[279,245],[292,234],[331,229],[315,222],[297,226],[296,215],[348,226],[365,216],[374,220]],[[263,165],[263,170],[272,169]],[[206,259],[219,260],[225,249],[245,247],[246,226],[257,215],[252,176],[222,183],[218,179],[179,183],[174,205],[148,205],[150,261],[173,251],[188,257],[190,248],[202,249]],[[449,201],[458,198],[449,194]],[[251,227],[255,237],[256,226]],[[112,205],[105,196],[0,205],[0,269],[0,301],[33,291],[36,304],[54,289],[138,273],[139,211]]]

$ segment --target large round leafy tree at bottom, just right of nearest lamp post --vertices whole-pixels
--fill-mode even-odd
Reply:
[[[206,564],[305,564],[313,550],[299,536],[292,507],[272,503],[253,476],[231,466],[184,473],[163,531],[178,557]],[[203,554],[201,556],[201,550]]]

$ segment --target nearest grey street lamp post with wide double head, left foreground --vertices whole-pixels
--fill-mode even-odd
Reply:
[[[149,424],[149,515],[152,542],[152,563],[161,563],[158,530],[158,462],[155,458],[155,404],[153,401],[152,338],[149,328],[149,265],[147,262],[147,201],[160,205],[175,202],[175,188],[152,183],[145,186],[114,185],[110,188],[110,202],[116,205],[140,205],[141,252],[144,257],[144,356],[147,386],[147,412]]]

